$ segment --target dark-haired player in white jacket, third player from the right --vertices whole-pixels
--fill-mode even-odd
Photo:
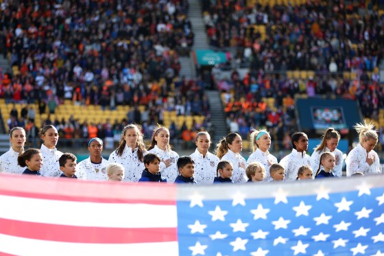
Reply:
[[[307,154],[308,136],[304,132],[296,132],[292,135],[292,152],[280,161],[285,170],[285,180],[295,181],[299,167],[311,165],[311,156]]]

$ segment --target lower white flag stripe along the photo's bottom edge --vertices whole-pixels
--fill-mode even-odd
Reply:
[[[178,255],[178,242],[141,244],[82,244],[52,242],[0,234],[0,255]]]

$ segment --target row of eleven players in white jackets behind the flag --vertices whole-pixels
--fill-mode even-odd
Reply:
[[[372,124],[356,124],[355,129],[359,134],[359,143],[353,148],[346,157],[346,174],[379,174],[380,161],[374,147],[378,141],[378,135]],[[171,150],[169,145],[169,130],[163,126],[158,126],[152,134],[151,143],[146,148],[143,142],[141,129],[136,124],[125,126],[121,132],[119,147],[110,154],[106,160],[101,156],[103,151],[103,141],[99,138],[93,138],[88,141],[88,151],[90,156],[76,164],[75,161],[71,167],[73,175],[82,180],[107,181],[107,167],[109,163],[118,163],[123,166],[125,175],[124,182],[138,182],[144,175],[143,170],[146,165],[143,161],[145,154],[153,153],[160,159],[158,170],[168,183],[173,183],[180,176],[177,162],[179,155]],[[60,167],[59,159],[62,152],[56,149],[58,143],[58,131],[54,126],[45,126],[40,130],[40,138],[43,140],[40,150],[29,149],[24,152],[26,141],[25,130],[20,127],[13,128],[10,131],[11,148],[0,156],[0,172],[10,174],[23,174],[34,168],[40,174],[47,177],[65,176],[65,172]],[[291,137],[292,152],[280,161],[284,168],[284,181],[293,181],[298,178],[298,171],[303,165],[309,165],[316,173],[327,170],[332,172],[332,176],[341,177],[343,167],[343,154],[337,149],[340,135],[337,130],[328,128],[322,136],[321,143],[315,148],[313,154],[309,156],[308,137],[304,132],[296,132]],[[263,181],[272,181],[269,174],[269,167],[278,163],[275,156],[269,153],[271,147],[271,137],[266,130],[254,130],[250,135],[252,143],[252,154],[247,161],[241,156],[243,150],[242,139],[237,133],[230,133],[217,144],[215,154],[208,152],[211,146],[211,137],[208,132],[199,132],[196,136],[195,152],[191,154],[194,162],[193,178],[197,184],[212,184],[215,177],[220,176],[217,172],[219,161],[228,161],[232,163],[233,183],[245,183],[250,179],[245,170],[253,162],[260,163],[265,167]],[[34,150],[34,151],[33,151]],[[324,154],[324,152],[330,152]],[[35,160],[32,163],[32,155],[39,154],[40,161]],[[321,161],[322,155],[333,156],[334,164],[324,168],[324,161]],[[18,160],[19,159],[19,160]],[[324,158],[325,159],[325,158]],[[73,162],[73,161],[72,161]],[[29,165],[35,165],[34,167]],[[25,169],[27,167],[27,169]],[[115,166],[116,167],[116,166]],[[301,168],[302,170],[303,168]],[[64,174],[63,174],[64,172]]]

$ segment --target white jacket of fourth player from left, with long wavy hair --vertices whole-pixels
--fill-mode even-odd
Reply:
[[[145,169],[144,163],[137,156],[137,148],[132,152],[132,148],[125,145],[123,153],[119,156],[116,150],[113,151],[108,161],[110,163],[120,163],[124,167],[124,182],[138,182]]]

